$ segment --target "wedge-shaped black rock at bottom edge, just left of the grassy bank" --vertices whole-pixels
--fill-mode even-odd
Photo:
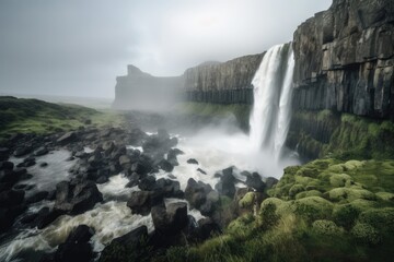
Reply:
[[[126,252],[128,261],[142,261],[148,259],[151,254],[150,249],[146,249],[146,241],[148,239],[148,228],[140,226],[130,233],[115,238],[111,243],[104,248],[100,255],[100,262],[109,261],[127,261],[125,258]]]

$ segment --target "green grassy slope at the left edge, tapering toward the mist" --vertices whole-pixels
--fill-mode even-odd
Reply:
[[[119,126],[121,116],[114,111],[51,104],[38,99],[0,97],[0,139],[13,133],[53,133],[91,126]]]

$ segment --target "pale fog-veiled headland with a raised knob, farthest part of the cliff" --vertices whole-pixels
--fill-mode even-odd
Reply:
[[[128,66],[125,76],[116,78],[115,109],[165,110],[182,98],[183,76],[159,78]]]

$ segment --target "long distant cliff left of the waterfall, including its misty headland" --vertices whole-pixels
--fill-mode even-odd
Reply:
[[[252,79],[264,53],[220,62],[206,62],[187,69],[181,76],[158,78],[128,66],[116,79],[116,109],[169,109],[175,102],[252,104]]]

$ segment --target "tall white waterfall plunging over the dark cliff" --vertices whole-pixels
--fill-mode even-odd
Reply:
[[[280,157],[290,124],[294,58],[290,44],[271,47],[252,81],[254,105],[250,142],[255,152]]]

